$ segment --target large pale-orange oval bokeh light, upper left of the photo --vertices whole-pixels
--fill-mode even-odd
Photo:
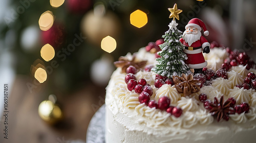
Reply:
[[[42,13],[38,20],[40,30],[42,31],[49,30],[53,25],[53,21],[54,21],[54,17],[51,11],[46,11]]]

